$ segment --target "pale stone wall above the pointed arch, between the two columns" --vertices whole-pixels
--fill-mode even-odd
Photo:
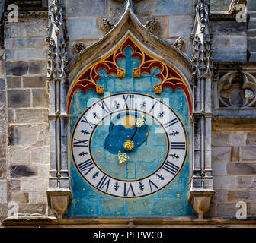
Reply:
[[[184,51],[189,53],[191,25],[194,18],[193,0],[141,0],[135,1],[135,11],[142,24],[155,18],[157,36],[174,43],[182,36]],[[75,43],[90,46],[104,36],[102,20],[107,18],[117,24],[124,11],[123,1],[114,0],[66,0],[66,16],[69,36],[69,59],[75,55]]]

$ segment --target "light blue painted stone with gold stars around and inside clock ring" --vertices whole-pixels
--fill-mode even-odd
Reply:
[[[113,93],[122,92],[142,92],[151,96],[155,96],[158,99],[162,99],[164,102],[168,100],[169,106],[171,106],[184,122],[184,127],[189,134],[189,109],[187,105],[187,98],[183,90],[177,89],[172,92],[170,88],[165,88],[162,94],[155,94],[153,91],[153,85],[158,84],[160,80],[155,77],[158,74],[158,68],[152,70],[152,74],[142,74],[139,78],[133,78],[131,71],[133,68],[139,65],[137,59],[131,57],[132,49],[127,47],[125,50],[125,59],[119,60],[119,65],[126,69],[125,79],[119,79],[115,75],[104,75],[98,84],[104,85],[105,91]],[[99,74],[104,74],[104,71],[99,71]],[[104,95],[99,95],[94,90],[88,90],[84,94],[81,90],[75,91],[72,99],[72,105],[70,109],[70,134],[72,134],[75,122],[84,110],[90,106],[97,99],[101,99]],[[166,103],[166,102],[165,102]],[[114,166],[107,166],[107,163],[117,159],[117,155],[104,150],[104,138],[109,133],[108,128],[101,128],[101,133],[95,132],[93,139],[94,156],[97,158],[99,166],[107,168],[107,172],[110,175],[121,178],[140,178],[148,175],[161,163],[162,159],[158,160],[157,166],[155,163],[147,162],[149,156],[152,156],[150,152],[147,152],[146,146],[143,144],[137,149],[141,150],[136,153],[137,160],[131,159],[133,163],[123,163],[123,169],[118,170]],[[146,142],[150,144],[151,150],[159,156],[164,156],[165,144],[164,137],[159,137],[158,134],[154,134],[152,137],[148,137]],[[99,151],[101,150],[101,151]],[[130,156],[135,156],[130,153]],[[88,183],[79,175],[75,169],[74,163],[70,164],[70,178],[72,186],[72,204],[69,205],[66,216],[191,216],[194,215],[191,205],[187,204],[187,191],[189,181],[189,156],[184,164],[184,168],[181,170],[178,177],[171,182],[166,188],[162,189],[156,194],[152,194],[148,197],[135,198],[135,199],[121,199],[110,197],[92,188]],[[134,163],[136,161],[136,163]],[[152,161],[152,159],[149,159]],[[145,166],[146,165],[146,166]],[[104,168],[105,169],[105,168]]]

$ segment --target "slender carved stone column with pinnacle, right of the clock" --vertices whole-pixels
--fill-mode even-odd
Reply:
[[[199,218],[210,209],[215,191],[211,162],[211,122],[213,79],[212,39],[209,22],[210,2],[195,1],[196,17],[191,34],[194,62],[193,171],[189,203]]]

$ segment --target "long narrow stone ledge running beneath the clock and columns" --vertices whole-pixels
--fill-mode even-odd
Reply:
[[[5,228],[128,228],[131,224],[133,227],[163,227],[165,228],[256,228],[256,219],[237,220],[237,219],[167,219],[158,218],[80,218],[80,219],[56,219],[50,217],[30,217],[18,219],[5,219],[2,226]]]

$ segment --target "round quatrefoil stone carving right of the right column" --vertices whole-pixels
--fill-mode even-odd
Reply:
[[[219,80],[219,107],[256,107],[256,78],[245,71],[232,71]]]

